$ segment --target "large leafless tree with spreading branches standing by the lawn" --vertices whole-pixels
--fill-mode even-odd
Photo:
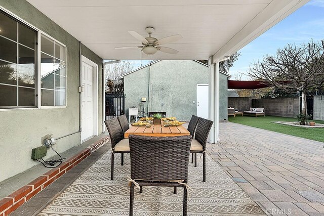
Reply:
[[[306,91],[324,85],[324,40],[278,49],[276,55],[255,61],[249,74],[287,93],[302,93],[302,114],[307,116]]]

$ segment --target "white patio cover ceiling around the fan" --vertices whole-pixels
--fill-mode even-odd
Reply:
[[[151,59],[206,60],[229,56],[284,19],[308,0],[27,0],[103,59],[140,59],[134,30],[162,38],[181,34],[166,45],[177,55],[157,52]],[[148,57],[146,57],[147,59]]]

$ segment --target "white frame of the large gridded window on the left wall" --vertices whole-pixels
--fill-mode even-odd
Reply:
[[[16,14],[12,13],[11,11],[7,10],[6,8],[0,6],[0,10],[7,13],[8,15],[12,16],[13,18],[17,19],[19,22],[27,25],[31,29],[35,30],[37,33],[37,59],[35,63],[35,89],[36,89],[36,107],[13,107],[13,108],[0,108],[0,112],[2,111],[9,111],[9,110],[35,110],[35,109],[61,109],[67,107],[67,47],[66,45],[62,44],[62,42],[58,41],[57,39],[53,38],[49,34],[45,33],[44,31],[36,28],[34,25],[26,22]],[[45,35],[51,39],[53,39],[58,44],[65,47],[65,106],[41,106],[41,35]]]

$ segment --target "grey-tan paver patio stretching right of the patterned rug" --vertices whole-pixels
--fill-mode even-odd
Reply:
[[[231,122],[219,134],[209,154],[266,212],[324,215],[324,143]]]

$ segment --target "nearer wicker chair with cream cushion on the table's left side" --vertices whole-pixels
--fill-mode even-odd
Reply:
[[[124,139],[124,133],[121,129],[118,119],[113,118],[105,121],[111,141],[111,177],[113,180],[114,154],[121,153],[121,165],[124,165],[124,153],[130,152],[128,139]]]

